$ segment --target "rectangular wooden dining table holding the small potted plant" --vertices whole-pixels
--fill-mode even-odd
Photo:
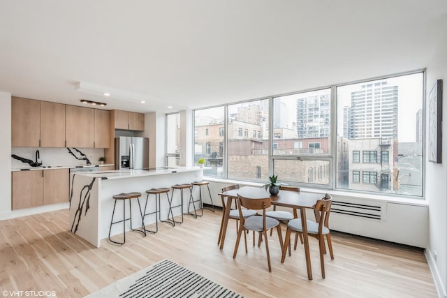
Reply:
[[[230,217],[230,207],[233,200],[237,200],[237,195],[241,195],[244,198],[268,198],[272,202],[272,205],[288,207],[294,210],[294,216],[297,217],[296,209],[300,209],[300,217],[302,223],[302,237],[305,246],[307,277],[312,280],[312,265],[310,262],[310,250],[309,250],[309,237],[307,236],[307,221],[306,221],[306,209],[312,209],[318,200],[324,198],[324,194],[321,193],[304,193],[296,191],[284,191],[280,190],[278,195],[270,195],[269,191],[262,187],[255,186],[242,186],[241,188],[232,189],[219,193],[221,197],[227,198],[226,207],[224,207],[223,221],[221,225],[221,238],[219,239],[220,249],[223,248],[225,243],[225,235],[228,227],[228,219]],[[287,249],[286,244],[284,248]]]

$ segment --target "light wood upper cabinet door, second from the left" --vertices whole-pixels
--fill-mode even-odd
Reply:
[[[41,147],[65,147],[65,106],[41,101]]]

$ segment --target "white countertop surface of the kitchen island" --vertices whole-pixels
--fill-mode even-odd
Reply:
[[[112,170],[105,172],[80,172],[77,175],[85,177],[104,177],[106,179],[123,179],[133,177],[154,176],[160,174],[174,174],[203,170],[203,167],[170,167],[160,170]]]

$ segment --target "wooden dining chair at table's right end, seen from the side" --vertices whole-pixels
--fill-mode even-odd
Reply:
[[[310,221],[310,220],[306,221],[307,234],[309,236],[318,239],[318,246],[320,248],[319,250],[320,250],[320,262],[321,262],[321,276],[323,276],[323,278],[325,278],[324,254],[326,253],[324,236],[326,236],[326,239],[328,240],[330,258],[334,260],[334,253],[332,251],[332,241],[330,239],[330,230],[329,230],[329,215],[330,215],[331,204],[332,204],[332,196],[326,193],[323,199],[318,200],[316,202],[314,208],[316,221]],[[288,246],[288,244],[290,244],[291,232],[302,234],[301,218],[295,218],[289,221],[287,224],[286,239],[284,239],[284,249],[282,252],[281,262],[284,262],[286,258],[287,248],[290,250],[290,246]]]

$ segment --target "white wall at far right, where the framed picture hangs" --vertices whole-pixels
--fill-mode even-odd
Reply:
[[[427,65],[427,97],[426,97],[426,121],[428,123],[428,94],[434,86],[436,80],[442,79],[444,84],[443,92],[443,123],[442,131],[447,131],[447,22],[444,28],[439,28],[441,39],[439,45],[434,47],[434,55]],[[427,125],[428,126],[428,125]],[[428,135],[426,127],[425,135]],[[426,137],[427,140],[427,137]],[[427,142],[426,142],[427,144]],[[427,152],[428,147],[425,147]],[[441,297],[447,297],[447,134],[444,133],[442,139],[442,163],[435,164],[425,161],[427,165],[426,174],[426,198],[429,202],[430,218],[430,239],[426,251],[427,259],[433,271],[433,278],[437,283],[438,292]],[[437,255],[437,260],[434,258]]]

